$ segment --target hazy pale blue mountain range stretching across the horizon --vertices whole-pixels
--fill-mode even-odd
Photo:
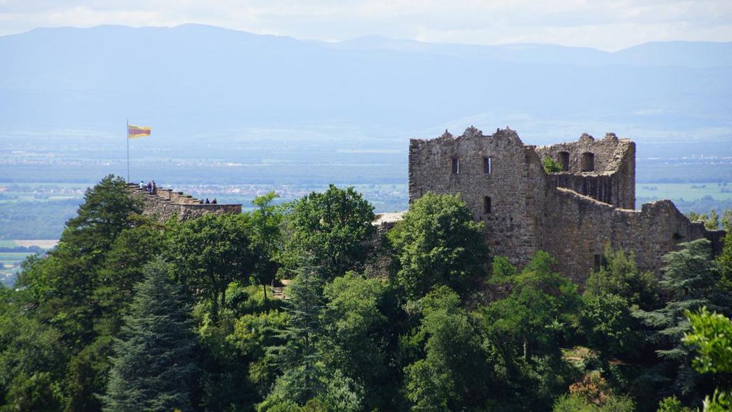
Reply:
[[[36,29],[0,37],[0,55],[7,130],[116,130],[130,117],[170,139],[295,124],[406,131],[526,118],[668,130],[732,117],[732,42],[608,53],[383,37],[328,43],[187,24]]]

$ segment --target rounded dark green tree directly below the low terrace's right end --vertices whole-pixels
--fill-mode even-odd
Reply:
[[[246,282],[253,271],[247,227],[244,214],[205,214],[180,223],[171,233],[168,250],[176,276],[195,298],[208,299],[214,321],[226,306],[229,283]]]

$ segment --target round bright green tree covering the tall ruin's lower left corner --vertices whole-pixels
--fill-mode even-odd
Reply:
[[[399,266],[393,282],[408,299],[419,299],[434,285],[463,293],[471,277],[485,275],[483,223],[473,221],[459,195],[428,192],[388,236]]]

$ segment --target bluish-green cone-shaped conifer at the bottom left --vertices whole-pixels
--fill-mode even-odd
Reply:
[[[195,371],[190,310],[162,259],[144,272],[114,345],[104,410],[187,411]]]

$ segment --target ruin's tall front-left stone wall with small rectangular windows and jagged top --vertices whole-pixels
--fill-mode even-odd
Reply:
[[[533,146],[524,146],[513,130],[485,136],[470,127],[457,138],[445,132],[409,143],[409,200],[426,192],[460,193],[475,220],[485,222],[493,253],[514,263],[526,261],[541,244],[546,179]]]

